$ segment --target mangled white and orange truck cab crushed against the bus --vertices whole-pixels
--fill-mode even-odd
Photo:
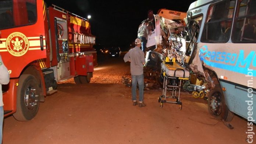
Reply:
[[[149,79],[160,76],[161,63],[169,57],[177,58],[177,61],[184,63],[185,57],[185,38],[182,35],[184,31],[184,18],[186,12],[172,11],[167,9],[160,9],[156,15],[151,19],[145,19],[139,25],[139,29],[148,21],[148,28],[150,35],[147,36],[146,44],[146,64],[145,76]],[[175,30],[178,33],[175,33]],[[179,50],[182,48],[184,54],[179,57]],[[178,56],[178,57],[176,57]]]

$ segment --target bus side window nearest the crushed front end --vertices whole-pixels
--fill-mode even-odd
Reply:
[[[209,7],[202,33],[202,42],[225,43],[228,41],[234,7],[235,0],[223,0]]]

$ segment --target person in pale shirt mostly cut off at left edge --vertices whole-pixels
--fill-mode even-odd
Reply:
[[[0,143],[2,143],[3,137],[3,120],[4,120],[4,103],[3,103],[3,93],[2,84],[8,84],[10,80],[10,74],[4,66],[1,55],[0,55]]]

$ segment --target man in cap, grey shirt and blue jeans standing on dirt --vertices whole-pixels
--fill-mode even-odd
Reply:
[[[141,50],[141,39],[135,40],[135,47],[129,50],[124,55],[124,62],[131,62],[131,75],[132,75],[132,102],[133,105],[137,105],[136,89],[137,82],[139,84],[139,107],[145,107],[143,103],[143,90],[144,90],[144,76],[143,76],[143,65],[145,65],[145,55]]]

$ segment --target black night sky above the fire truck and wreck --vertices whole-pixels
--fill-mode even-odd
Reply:
[[[137,37],[138,26],[147,18],[147,11],[154,14],[160,8],[186,12],[195,0],[45,0],[67,11],[89,19],[96,44],[129,47]]]

